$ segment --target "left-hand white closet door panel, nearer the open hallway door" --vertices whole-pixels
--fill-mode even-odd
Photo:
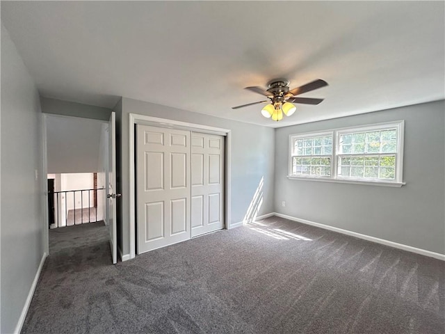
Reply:
[[[191,238],[190,132],[137,125],[137,250]]]

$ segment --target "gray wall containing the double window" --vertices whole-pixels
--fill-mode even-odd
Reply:
[[[444,254],[444,114],[439,101],[277,129],[275,212]],[[405,186],[286,178],[290,134],[391,120],[405,120]]]

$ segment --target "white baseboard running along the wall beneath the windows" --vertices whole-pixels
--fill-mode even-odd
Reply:
[[[428,256],[428,257],[434,257],[435,259],[445,261],[445,255],[444,254],[431,252],[430,250],[416,248],[416,247],[412,247],[412,246],[408,246],[408,245],[404,245],[404,244],[398,244],[397,242],[394,242],[394,241],[389,241],[389,240],[385,240],[385,239],[371,237],[370,235],[361,234],[361,233],[357,233],[357,232],[352,232],[352,231],[349,231],[349,230],[343,230],[342,228],[335,228],[334,226],[325,225],[325,224],[321,224],[321,223],[315,223],[314,221],[307,221],[306,219],[296,218],[296,217],[293,217],[293,216],[288,216],[286,214],[279,214],[279,213],[275,212],[274,215],[277,216],[277,217],[289,219],[289,221],[297,221],[298,223],[303,223],[303,224],[307,224],[307,225],[316,226],[317,228],[324,228],[325,230],[331,230],[331,231],[334,231],[334,232],[347,234],[347,235],[350,235],[352,237],[356,237],[356,238],[359,238],[359,239],[373,241],[373,242],[375,242],[377,244],[391,246],[391,247],[394,247],[394,248],[407,250],[408,252],[417,253],[417,254],[420,254],[420,255]]]

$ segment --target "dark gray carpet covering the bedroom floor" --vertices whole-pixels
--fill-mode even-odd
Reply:
[[[114,266],[108,241],[51,255],[22,333],[443,334],[444,280],[442,261],[272,217]]]

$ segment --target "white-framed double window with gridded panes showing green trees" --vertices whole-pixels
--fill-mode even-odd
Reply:
[[[289,177],[401,186],[403,121],[290,136]]]

